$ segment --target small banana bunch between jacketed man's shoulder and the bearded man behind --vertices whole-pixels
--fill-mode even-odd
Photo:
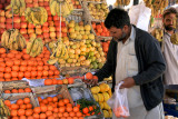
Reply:
[[[164,30],[160,29],[160,28],[156,28],[156,29],[154,29],[154,31],[151,32],[151,34],[152,34],[158,41],[162,41]]]

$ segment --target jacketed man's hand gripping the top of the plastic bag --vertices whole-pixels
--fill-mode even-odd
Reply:
[[[131,78],[131,77],[128,77],[128,78],[123,79],[122,81],[123,81],[123,83],[120,86],[120,89],[130,88],[136,85],[134,78]]]

